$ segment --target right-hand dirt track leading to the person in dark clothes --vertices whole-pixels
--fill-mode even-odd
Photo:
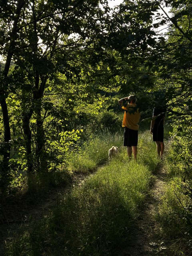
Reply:
[[[154,256],[157,252],[165,252],[166,249],[163,248],[166,245],[163,241],[159,241],[156,236],[158,223],[154,218],[164,193],[167,177],[163,163],[158,166],[155,177],[154,184],[144,202],[141,217],[137,220],[136,228],[133,230],[130,240],[126,241],[126,245],[120,248],[115,256]]]

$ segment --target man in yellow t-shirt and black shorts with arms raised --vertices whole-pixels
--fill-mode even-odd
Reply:
[[[135,102],[136,97],[134,95],[122,98],[118,101],[122,106],[122,109],[125,110],[122,122],[122,126],[125,128],[123,145],[127,147],[129,160],[131,160],[132,153],[134,159],[137,160],[138,122],[140,119],[140,112]]]

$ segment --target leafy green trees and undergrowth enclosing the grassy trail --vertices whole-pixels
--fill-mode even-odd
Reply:
[[[166,106],[170,161],[187,202],[180,218],[191,226],[191,6],[0,2],[1,200],[66,184],[78,169],[71,159],[103,131],[114,136],[122,120],[118,99],[135,94],[146,126],[154,106]]]

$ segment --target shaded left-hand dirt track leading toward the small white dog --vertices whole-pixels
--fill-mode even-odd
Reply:
[[[52,188],[41,196],[17,196],[0,204],[0,256],[5,254],[5,243],[16,237],[18,230],[28,223],[44,218],[54,209],[66,192],[80,185],[87,175],[79,174],[72,184],[63,188]]]

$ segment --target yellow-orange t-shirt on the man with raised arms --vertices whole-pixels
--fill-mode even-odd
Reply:
[[[140,119],[139,108],[136,107],[136,104],[127,104],[127,106],[122,106],[122,109],[126,110],[124,112],[122,126],[130,128],[132,130],[138,130],[138,122]]]

